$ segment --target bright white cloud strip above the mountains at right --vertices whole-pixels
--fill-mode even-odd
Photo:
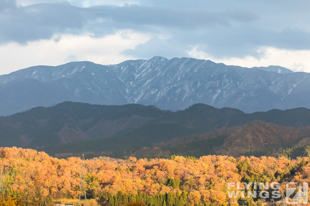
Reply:
[[[192,58],[208,59],[226,65],[237,65],[249,68],[255,66],[277,65],[286,67],[295,72],[310,72],[310,50],[286,50],[274,47],[261,47],[258,52],[262,53],[260,58],[255,58],[250,55],[243,58],[215,58],[200,50],[199,46],[194,46],[188,51],[188,54]]]

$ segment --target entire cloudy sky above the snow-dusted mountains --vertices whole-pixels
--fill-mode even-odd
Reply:
[[[162,56],[310,72],[308,0],[0,0],[0,75]]]

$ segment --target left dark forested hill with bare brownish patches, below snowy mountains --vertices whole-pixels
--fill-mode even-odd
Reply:
[[[35,107],[0,119],[3,146],[35,148],[66,142],[110,137],[146,124],[170,111],[139,104],[122,106],[64,102]]]

